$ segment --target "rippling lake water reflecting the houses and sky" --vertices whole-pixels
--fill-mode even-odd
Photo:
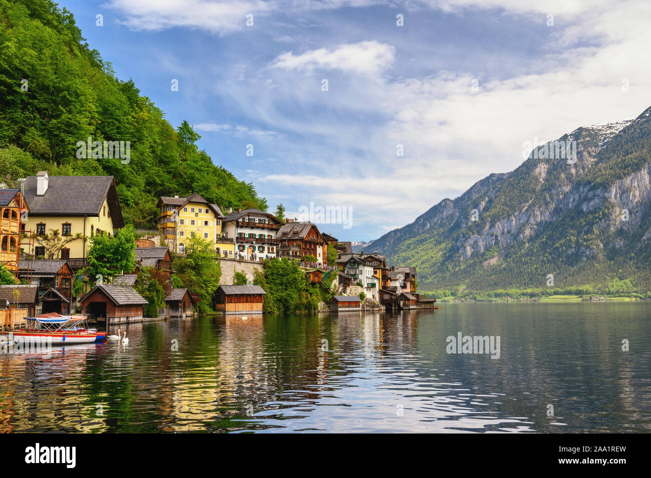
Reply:
[[[0,355],[0,432],[648,432],[650,317],[446,304],[128,325],[126,346]],[[447,353],[459,332],[499,336],[499,358]]]

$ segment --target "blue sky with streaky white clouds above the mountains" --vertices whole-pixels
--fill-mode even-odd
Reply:
[[[376,239],[513,170],[525,142],[651,106],[647,0],[59,5],[270,212],[283,203],[341,241]]]

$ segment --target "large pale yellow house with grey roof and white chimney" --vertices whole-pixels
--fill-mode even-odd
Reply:
[[[113,176],[50,178],[40,171],[24,179],[24,193],[30,209],[25,230],[36,233],[35,244],[23,247],[27,254],[73,259],[68,265],[77,269],[86,265],[85,239],[124,227]],[[52,231],[59,232],[58,240],[51,240]]]

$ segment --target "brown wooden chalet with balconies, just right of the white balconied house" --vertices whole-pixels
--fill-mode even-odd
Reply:
[[[316,262],[327,263],[327,242],[312,222],[286,219],[276,237],[278,257],[301,259],[314,256]]]

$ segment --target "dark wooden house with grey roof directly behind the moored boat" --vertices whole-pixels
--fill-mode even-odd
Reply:
[[[74,274],[66,260],[21,259],[18,278],[38,287],[40,313],[70,313]]]

